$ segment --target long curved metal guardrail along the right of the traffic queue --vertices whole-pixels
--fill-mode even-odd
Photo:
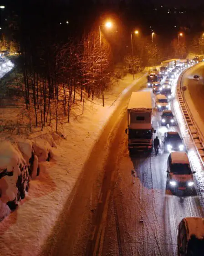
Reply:
[[[190,67],[189,69],[192,69],[193,67]],[[182,74],[179,76],[179,79],[177,81],[176,86],[176,95],[179,101],[179,106],[181,109],[181,112],[184,116],[185,123],[188,127],[189,134],[191,136],[192,141],[194,142],[195,149],[199,155],[199,159],[201,160],[203,166],[204,166],[204,142],[203,142],[203,135],[198,127],[198,125],[195,123],[193,114],[188,106],[187,101],[185,101],[185,95],[184,91],[182,93],[182,79],[184,77],[184,74],[189,69],[186,69],[182,72]]]

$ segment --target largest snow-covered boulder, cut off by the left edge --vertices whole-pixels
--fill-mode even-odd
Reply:
[[[8,141],[0,142],[0,200],[11,210],[29,189],[29,171],[20,151]]]

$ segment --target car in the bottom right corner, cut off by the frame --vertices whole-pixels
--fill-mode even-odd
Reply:
[[[186,217],[181,220],[177,246],[178,256],[204,255],[204,218]]]

